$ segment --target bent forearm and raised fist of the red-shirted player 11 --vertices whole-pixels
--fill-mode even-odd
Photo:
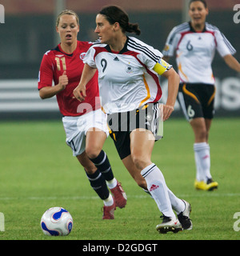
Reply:
[[[58,94],[60,91],[66,88],[68,84],[68,78],[66,75],[66,71],[63,72],[62,76],[59,77],[58,84],[55,86],[45,86],[39,90],[39,96],[44,98],[52,98],[54,95]]]

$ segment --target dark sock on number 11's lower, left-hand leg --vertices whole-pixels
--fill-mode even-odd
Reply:
[[[91,187],[96,191],[99,198],[106,200],[110,196],[110,192],[106,186],[106,180],[102,177],[99,170],[96,170],[94,174],[87,174],[87,178],[90,181]]]

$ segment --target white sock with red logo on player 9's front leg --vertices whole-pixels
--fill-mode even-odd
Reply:
[[[142,177],[146,179],[147,189],[157,203],[158,209],[166,217],[176,219],[171,206],[168,188],[161,170],[152,163],[141,171]]]

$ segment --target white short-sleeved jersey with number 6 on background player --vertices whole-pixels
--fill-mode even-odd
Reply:
[[[176,54],[181,82],[214,84],[211,63],[215,50],[222,57],[236,52],[216,26],[206,22],[204,30],[196,32],[190,22],[185,22],[171,30],[162,54]]]

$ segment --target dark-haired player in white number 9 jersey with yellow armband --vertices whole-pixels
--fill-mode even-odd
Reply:
[[[158,50],[126,36],[126,32],[140,34],[140,30],[118,6],[104,7],[96,17],[96,24],[100,43],[91,46],[86,53],[86,64],[74,96],[79,101],[87,97],[86,84],[98,69],[102,108],[108,114],[110,136],[118,154],[130,173],[133,167],[138,171],[136,176],[142,174],[146,179],[147,189],[163,214],[162,223],[156,229],[161,233],[191,229],[190,204],[168,189],[162,171],[151,162],[154,141],[158,139],[158,100],[162,96],[158,74],[169,82],[163,120],[174,110],[178,74],[162,61]]]

